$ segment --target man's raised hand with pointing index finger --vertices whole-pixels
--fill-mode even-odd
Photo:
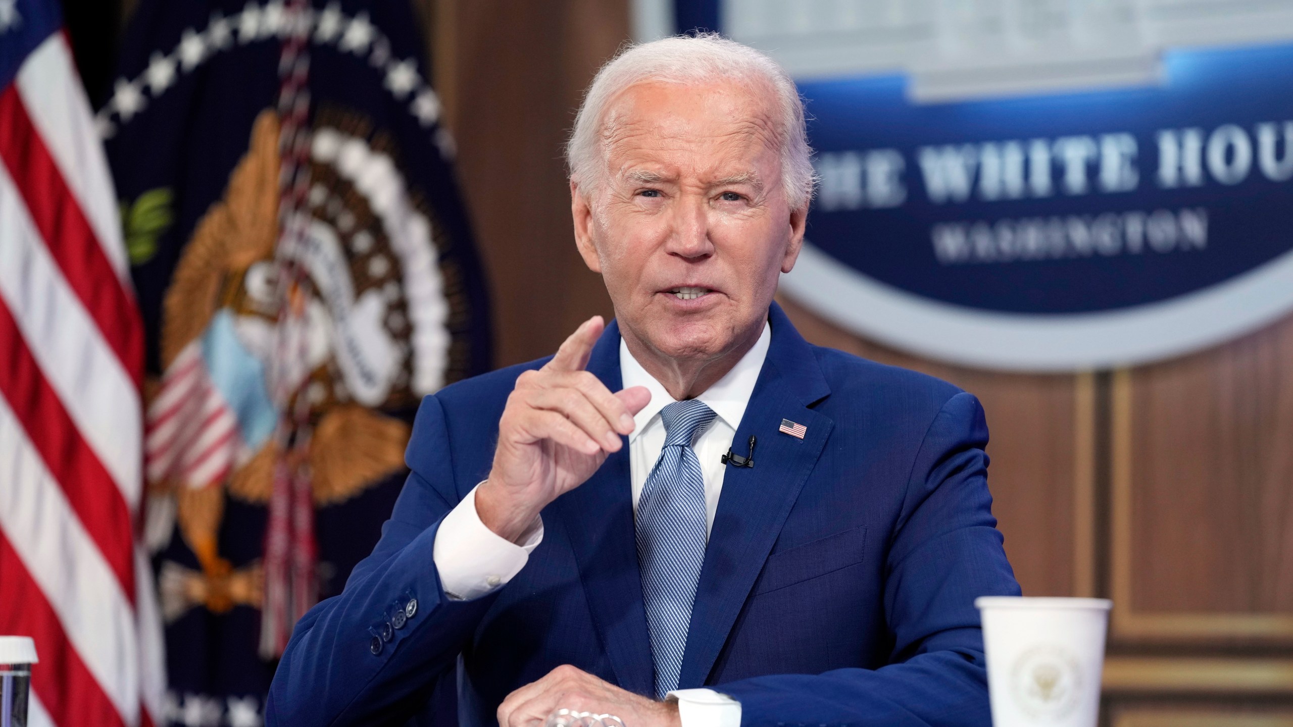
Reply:
[[[544,506],[591,477],[650,401],[643,387],[610,393],[584,370],[604,327],[601,316],[584,321],[547,365],[516,379],[494,466],[476,490],[481,521],[503,538],[515,542]]]

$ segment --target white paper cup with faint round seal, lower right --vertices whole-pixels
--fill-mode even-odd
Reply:
[[[1113,602],[983,596],[993,727],[1095,727]]]

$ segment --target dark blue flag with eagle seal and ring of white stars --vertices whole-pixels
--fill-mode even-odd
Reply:
[[[489,367],[453,140],[406,0],[144,0],[97,125],[147,339],[147,541],[180,724],[259,724],[296,620]]]

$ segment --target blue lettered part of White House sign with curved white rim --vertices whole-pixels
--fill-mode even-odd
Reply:
[[[1169,53],[1144,88],[913,103],[804,81],[821,190],[782,281],[926,356],[1069,370],[1293,308],[1293,45]]]

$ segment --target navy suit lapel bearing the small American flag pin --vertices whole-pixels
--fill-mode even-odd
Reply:
[[[769,321],[772,344],[768,357],[733,440],[737,442],[734,449],[741,450],[750,435],[758,437],[754,467],[729,466],[723,476],[723,494],[692,607],[679,679],[681,688],[703,686],[714,669],[741,607],[834,426],[828,417],[808,409],[830,393],[812,347],[799,336],[776,303],[769,310]],[[781,419],[806,424],[804,439],[781,433]],[[634,573],[637,573],[636,565]],[[650,658],[649,649],[646,658]]]

